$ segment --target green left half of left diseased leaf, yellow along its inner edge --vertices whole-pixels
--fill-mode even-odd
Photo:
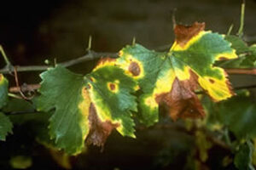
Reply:
[[[89,133],[89,105],[83,94],[84,77],[57,66],[40,75],[43,79],[36,100],[38,111],[55,113],[49,118],[49,135],[56,147],[78,154]]]

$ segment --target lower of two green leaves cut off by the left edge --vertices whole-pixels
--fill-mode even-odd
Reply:
[[[5,140],[8,133],[13,133],[12,128],[13,123],[9,121],[9,117],[0,112],[0,140]]]

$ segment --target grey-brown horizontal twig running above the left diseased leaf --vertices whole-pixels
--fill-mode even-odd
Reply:
[[[88,54],[85,54],[84,56],[79,57],[78,59],[71,59],[66,62],[59,63],[58,65],[62,65],[64,67],[69,67],[72,65],[77,65],[84,61],[88,61],[88,60],[92,60],[92,59],[99,59],[101,57],[116,58],[116,57],[118,57],[118,54],[116,54],[116,53],[96,53],[94,51],[90,51]],[[52,66],[48,66],[48,65],[16,66],[16,69],[18,72],[21,72],[21,71],[46,71],[49,68],[52,68]],[[6,74],[6,73],[9,73],[9,71],[14,71],[14,67],[12,67],[11,69],[3,68],[0,70],[0,73]]]

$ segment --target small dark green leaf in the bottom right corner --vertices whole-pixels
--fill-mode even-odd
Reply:
[[[253,170],[252,156],[253,156],[253,144],[247,141],[245,144],[241,144],[239,150],[236,153],[234,163],[238,169],[241,170]]]

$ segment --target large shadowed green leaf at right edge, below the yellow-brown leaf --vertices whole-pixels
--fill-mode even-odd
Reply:
[[[205,106],[208,110],[209,126],[227,126],[239,139],[255,138],[256,105],[247,95],[242,93],[218,104],[205,101],[204,103],[208,103]]]

